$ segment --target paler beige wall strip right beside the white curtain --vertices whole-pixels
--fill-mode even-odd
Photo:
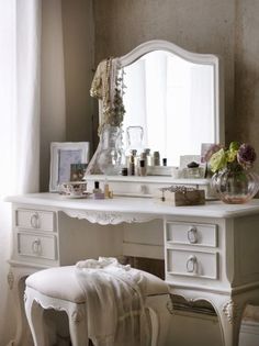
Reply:
[[[61,0],[42,4],[41,190],[48,190],[50,142],[66,139]]]

